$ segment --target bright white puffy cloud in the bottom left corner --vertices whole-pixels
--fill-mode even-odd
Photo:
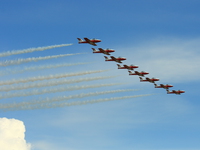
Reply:
[[[25,126],[16,119],[0,118],[0,150],[30,150],[25,140]]]

